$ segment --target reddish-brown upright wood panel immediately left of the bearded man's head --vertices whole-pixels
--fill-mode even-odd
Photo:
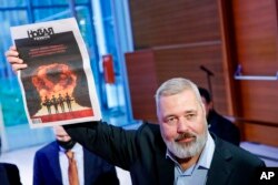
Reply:
[[[153,60],[150,50],[126,54],[130,99],[136,120],[156,122],[153,95],[158,80]]]

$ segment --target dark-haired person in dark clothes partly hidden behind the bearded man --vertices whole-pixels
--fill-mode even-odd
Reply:
[[[211,96],[206,89],[199,88],[199,92],[206,109],[209,131],[215,133],[220,138],[239,146],[239,129],[214,109]]]

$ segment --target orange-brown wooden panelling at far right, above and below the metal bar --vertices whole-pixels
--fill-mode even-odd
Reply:
[[[245,75],[272,75],[278,71],[277,9],[275,0],[232,1],[237,63]],[[251,120],[277,122],[277,81],[238,82],[242,112]]]

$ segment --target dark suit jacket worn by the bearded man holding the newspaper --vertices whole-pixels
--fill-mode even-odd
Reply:
[[[106,123],[64,125],[69,135],[111,164],[130,171],[133,185],[173,184],[175,164],[166,158],[159,125],[142,124],[125,131]],[[265,163],[251,153],[214,136],[216,151],[208,185],[251,185],[257,167]]]

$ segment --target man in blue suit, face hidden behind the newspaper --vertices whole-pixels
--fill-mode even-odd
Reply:
[[[33,185],[69,184],[67,151],[75,152],[80,185],[118,185],[115,166],[71,140],[62,126],[54,126],[56,141],[36,152]]]

